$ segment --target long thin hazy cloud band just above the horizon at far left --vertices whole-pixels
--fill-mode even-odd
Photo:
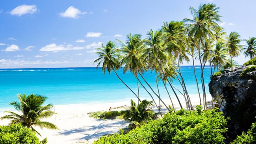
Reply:
[[[49,64],[67,64],[69,61],[25,61],[25,60],[13,60],[13,59],[1,59],[0,64],[5,66],[28,66],[28,65],[49,65]]]

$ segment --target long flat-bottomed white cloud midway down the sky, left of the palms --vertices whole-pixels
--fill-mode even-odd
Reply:
[[[71,44],[69,45],[63,45],[59,44],[56,45],[55,43],[48,44],[44,46],[43,48],[40,49],[40,51],[53,51],[53,52],[58,52],[58,51],[63,51],[63,50],[82,50],[84,47],[79,47],[79,46],[72,46]]]

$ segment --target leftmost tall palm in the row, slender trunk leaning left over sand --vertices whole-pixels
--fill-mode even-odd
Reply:
[[[120,62],[118,61],[118,58],[120,56],[119,54],[119,49],[117,47],[115,47],[115,44],[112,41],[109,41],[106,46],[104,46],[104,44],[102,44],[101,48],[96,48],[97,52],[95,52],[96,54],[98,54],[98,59],[96,59],[94,61],[94,63],[98,63],[96,66],[96,69],[102,64],[102,71],[106,72],[106,70],[108,70],[108,73],[110,74],[111,70],[113,70],[115,72],[115,75],[117,76],[117,78],[129,89],[131,90],[131,92],[138,98],[139,102],[141,102],[141,100],[139,99],[139,97],[137,96],[137,94],[135,94],[135,92],[128,87],[128,85],[126,85],[126,83],[124,83],[124,81],[122,81],[122,79],[118,76],[117,72],[115,71],[116,69],[120,68]]]

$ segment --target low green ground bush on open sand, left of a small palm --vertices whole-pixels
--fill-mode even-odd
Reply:
[[[91,118],[105,119],[115,118],[117,116],[126,116],[129,113],[128,110],[123,111],[96,111],[89,114]]]

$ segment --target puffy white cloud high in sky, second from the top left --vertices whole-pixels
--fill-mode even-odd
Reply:
[[[82,12],[80,11],[79,9],[73,7],[73,6],[70,6],[65,12],[63,13],[60,13],[59,15],[61,17],[68,17],[68,18],[79,18],[80,15],[84,15],[86,14],[87,12]]]

